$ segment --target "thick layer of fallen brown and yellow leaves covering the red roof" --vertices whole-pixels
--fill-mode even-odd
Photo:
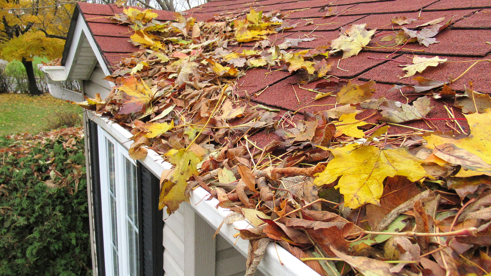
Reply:
[[[356,55],[375,30],[352,25],[325,46],[294,53],[286,49],[315,38],[269,41],[268,34],[294,27],[277,11],[207,22],[179,13],[174,22],[156,17],[125,8],[112,18],[135,31],[130,41],[141,51],[106,78],[117,84],[106,99],[80,105],[131,131],[132,158],[151,148],[174,165],[161,176],[160,208],[167,213],[200,186],[207,199],[235,211],[223,223],[246,219],[254,226],[240,230],[250,241],[246,275],[254,274],[272,240],[321,275],[480,276],[491,270],[489,95],[472,85],[457,95],[450,81],[420,78],[413,86],[416,93],[459,96],[470,136],[450,111],[454,133],[409,128],[389,134],[391,124],[427,120],[430,98],[411,104],[373,99],[373,81],[318,83],[315,100],[335,95],[337,107],[304,112],[299,120],[294,115],[303,108],[284,112],[253,105],[247,93],[241,97],[237,83],[246,69],[274,66],[296,72],[299,83],[326,79],[329,57]],[[402,30],[396,39],[403,46],[429,44],[444,27],[435,24]],[[251,41],[251,50],[237,47]],[[434,62],[443,61],[428,64]],[[377,111],[355,119],[363,109],[379,110],[379,123],[365,122]],[[249,137],[261,132],[282,139],[259,147]]]

